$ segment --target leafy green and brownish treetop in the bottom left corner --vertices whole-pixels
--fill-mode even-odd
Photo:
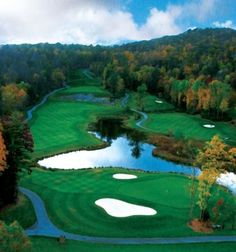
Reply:
[[[0,221],[0,251],[6,252],[26,252],[31,251],[29,238],[24,234],[24,230],[13,222],[10,225]]]

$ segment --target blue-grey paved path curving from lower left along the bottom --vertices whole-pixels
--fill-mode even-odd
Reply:
[[[194,237],[175,237],[175,238],[110,238],[94,237],[79,234],[72,234],[58,229],[49,219],[42,199],[34,192],[20,187],[20,191],[25,194],[32,202],[37,221],[25,233],[29,236],[55,237],[65,236],[66,239],[83,241],[90,243],[106,244],[178,244],[178,243],[208,243],[208,242],[236,242],[236,236],[194,236]],[[78,223],[79,225],[79,223]]]

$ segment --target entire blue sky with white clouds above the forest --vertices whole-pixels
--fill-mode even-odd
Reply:
[[[0,44],[113,45],[236,29],[236,0],[0,0]]]

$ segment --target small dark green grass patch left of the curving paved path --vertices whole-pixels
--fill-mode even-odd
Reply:
[[[31,201],[19,193],[18,201],[15,205],[9,205],[0,210],[0,220],[7,224],[17,220],[23,228],[31,227],[36,222]]]

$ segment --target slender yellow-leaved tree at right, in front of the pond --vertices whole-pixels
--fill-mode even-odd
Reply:
[[[204,149],[199,151],[196,165],[201,168],[202,172],[199,175],[197,204],[201,210],[201,221],[206,221],[209,217],[208,202],[211,197],[212,186],[220,173],[227,170],[229,162],[236,164],[234,155],[234,149],[229,151],[227,145],[219,136],[214,136],[210,142],[206,143]]]

